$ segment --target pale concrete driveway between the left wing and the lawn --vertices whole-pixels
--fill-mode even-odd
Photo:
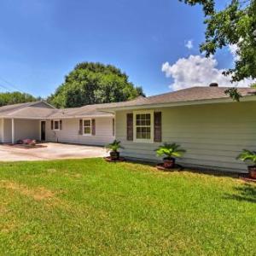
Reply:
[[[23,145],[0,145],[0,161],[32,161],[56,159],[80,159],[106,156],[102,147],[61,143],[37,144],[36,148]]]

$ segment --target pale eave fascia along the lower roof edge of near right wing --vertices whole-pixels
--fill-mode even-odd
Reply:
[[[256,96],[243,96],[240,99],[241,102],[253,102],[256,101]],[[223,97],[217,99],[197,100],[197,101],[185,101],[185,102],[167,102],[167,103],[149,103],[133,106],[121,106],[111,108],[98,108],[98,111],[114,113],[119,110],[131,110],[131,109],[148,109],[148,108],[166,108],[166,107],[181,107],[192,105],[204,105],[204,104],[218,104],[218,103],[231,103],[234,102],[230,97]]]

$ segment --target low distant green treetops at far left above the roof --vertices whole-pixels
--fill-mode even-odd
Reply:
[[[0,93],[0,107],[17,103],[35,102],[37,100],[39,98],[35,98],[27,93],[20,93],[19,91]]]

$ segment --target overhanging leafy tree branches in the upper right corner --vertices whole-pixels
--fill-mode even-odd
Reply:
[[[256,79],[256,0],[230,0],[217,10],[214,0],[179,0],[189,5],[201,4],[206,16],[206,40],[201,51],[207,56],[217,49],[235,45],[235,67],[226,71],[233,81]]]

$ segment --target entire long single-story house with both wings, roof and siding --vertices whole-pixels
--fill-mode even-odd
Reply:
[[[0,142],[38,141],[105,145],[114,138],[122,155],[159,161],[155,148],[178,143],[187,152],[183,166],[247,172],[236,160],[243,148],[255,149],[256,90],[239,88],[234,102],[224,87],[192,87],[129,102],[56,109],[47,102],[0,108]]]

